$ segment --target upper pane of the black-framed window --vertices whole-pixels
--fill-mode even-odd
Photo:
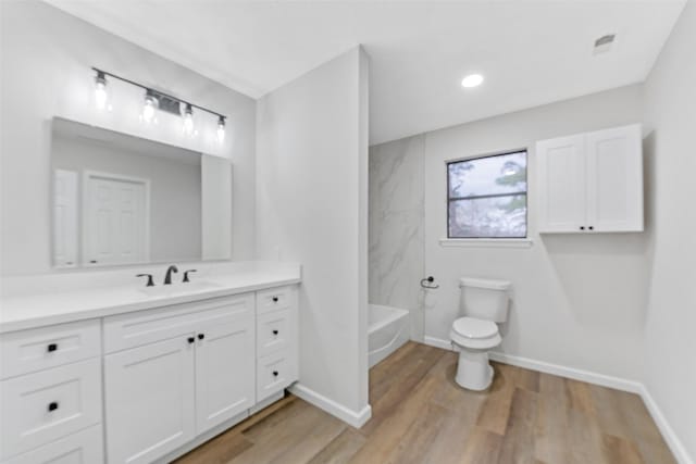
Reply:
[[[526,191],[526,152],[448,164],[449,197]]]

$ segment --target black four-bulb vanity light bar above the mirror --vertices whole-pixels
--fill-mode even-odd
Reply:
[[[159,90],[151,89],[142,84],[136,83],[135,80],[126,79],[125,77],[117,76],[113,73],[109,73],[103,70],[99,70],[97,67],[92,67],[92,71],[97,73],[95,77],[95,103],[97,108],[103,109],[107,108],[107,76],[112,77],[114,79],[124,81],[126,84],[130,84],[132,86],[139,87],[145,90],[145,102],[142,103],[142,113],[140,117],[144,122],[157,123],[157,118],[154,117],[157,112],[164,111],[172,114],[177,114],[183,117],[183,127],[184,133],[190,136],[195,136],[198,134],[198,130],[194,127],[194,108],[206,113],[210,113],[213,116],[217,117],[217,140],[222,142],[225,138],[225,116],[224,114],[217,113],[216,111],[209,110],[204,106],[200,106],[198,104],[194,104],[186,100],[182,100],[181,98],[171,96],[169,93],[164,93]],[[182,106],[184,111],[182,111]],[[109,110],[111,110],[109,108]]]

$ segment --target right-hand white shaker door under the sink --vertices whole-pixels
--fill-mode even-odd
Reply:
[[[220,317],[201,322],[196,347],[197,432],[254,403],[254,298],[231,302]]]

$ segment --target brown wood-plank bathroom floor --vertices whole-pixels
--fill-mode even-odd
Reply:
[[[455,353],[409,342],[370,372],[361,429],[290,396],[177,463],[675,462],[636,394],[504,364],[471,392],[456,367]]]

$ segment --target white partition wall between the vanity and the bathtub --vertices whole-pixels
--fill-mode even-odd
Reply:
[[[257,109],[258,258],[302,263],[300,384],[368,405],[366,62],[356,48]]]

